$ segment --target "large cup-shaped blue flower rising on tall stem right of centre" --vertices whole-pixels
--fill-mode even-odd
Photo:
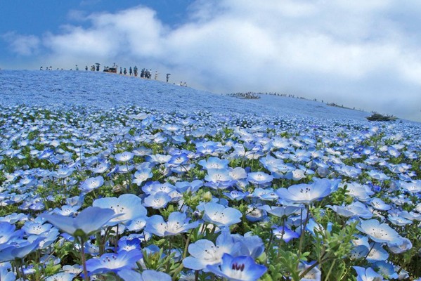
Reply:
[[[280,199],[289,202],[311,204],[330,195],[335,185],[337,186],[338,184],[338,181],[320,179],[311,185],[302,183],[291,185],[289,188],[280,188],[276,190],[276,193]]]

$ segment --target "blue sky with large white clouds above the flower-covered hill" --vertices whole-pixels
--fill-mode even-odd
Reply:
[[[421,1],[2,0],[0,68],[93,63],[421,122]]]

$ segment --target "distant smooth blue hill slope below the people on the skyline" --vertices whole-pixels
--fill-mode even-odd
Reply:
[[[85,71],[1,70],[0,104],[90,105],[121,107],[137,105],[154,110],[214,114],[285,117],[320,117],[366,121],[368,112],[331,107],[325,103],[282,96],[261,95],[240,100],[198,91],[162,81]]]

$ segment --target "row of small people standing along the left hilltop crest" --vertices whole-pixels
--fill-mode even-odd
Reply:
[[[91,70],[91,71],[100,71],[101,68],[101,64],[100,63],[94,63],[93,65],[91,65],[91,67],[88,67],[88,65],[85,66],[85,71]],[[41,66],[39,67],[39,70],[44,70],[44,68]],[[53,67],[49,66],[49,67],[45,67],[45,70],[53,70]],[[59,70],[57,68],[57,70]],[[63,70],[63,68],[61,69]],[[70,69],[72,70],[72,69]],[[75,70],[79,70],[79,66],[75,65]],[[112,65],[112,67],[109,66],[104,66],[103,68],[104,72],[112,72],[112,73],[119,73],[119,74],[124,74],[127,75],[129,74],[129,76],[134,76],[134,77],[138,77],[138,67],[135,65],[134,67],[129,67],[129,70],[127,70],[127,67],[118,67],[118,65],[116,65],[115,63]],[[158,80],[158,72],[157,70],[155,70],[155,74],[153,75],[153,71],[151,69],[147,69],[147,68],[142,68],[141,73],[140,73],[140,77],[144,78],[144,79],[155,79]],[[171,73],[167,73],[165,75],[165,80],[167,81],[167,83],[169,82],[169,77],[171,76]],[[174,83],[176,84],[176,83]],[[181,81],[179,84],[176,84],[179,86],[187,86],[186,82]]]

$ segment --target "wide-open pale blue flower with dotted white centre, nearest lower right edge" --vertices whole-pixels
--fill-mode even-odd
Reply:
[[[368,235],[368,237],[375,242],[394,242],[401,239],[399,233],[397,233],[396,230],[391,228],[387,223],[380,223],[375,219],[361,221],[356,228],[362,233]]]

